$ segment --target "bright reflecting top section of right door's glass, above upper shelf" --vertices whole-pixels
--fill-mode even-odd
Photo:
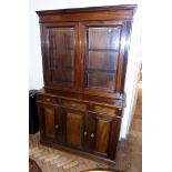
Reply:
[[[89,49],[119,49],[120,27],[89,28]]]

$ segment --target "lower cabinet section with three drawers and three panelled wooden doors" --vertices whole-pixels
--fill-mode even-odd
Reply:
[[[115,164],[122,109],[41,93],[37,107],[42,144]]]

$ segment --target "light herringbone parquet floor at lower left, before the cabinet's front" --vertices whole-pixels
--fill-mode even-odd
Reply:
[[[43,146],[37,142],[36,138],[30,139],[29,155],[38,163],[42,172],[80,172],[94,168],[107,168],[107,165],[79,155]]]

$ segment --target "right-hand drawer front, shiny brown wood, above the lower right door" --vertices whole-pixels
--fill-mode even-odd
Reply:
[[[97,113],[107,113],[107,114],[114,114],[117,110],[114,108],[101,107],[101,105],[91,105],[89,110],[97,112]]]

